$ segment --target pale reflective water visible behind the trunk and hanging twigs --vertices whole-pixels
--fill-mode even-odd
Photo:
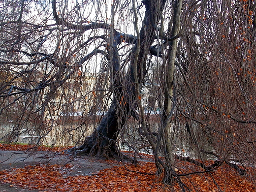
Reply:
[[[45,137],[41,140],[42,145],[47,146],[75,146],[80,145],[84,138],[90,135],[94,128],[96,128],[96,124],[89,123],[84,124],[83,126],[79,126],[79,122],[72,122],[68,124],[58,124],[52,128],[52,130],[45,135]],[[148,122],[149,128],[153,132],[157,132],[160,122],[158,120],[151,120]],[[3,137],[6,133],[12,131],[12,127],[14,124],[12,122],[2,124],[0,126],[0,138]],[[127,127],[127,128],[126,128]],[[27,130],[31,130],[28,132]],[[28,144],[36,144],[41,135],[38,135],[38,132],[34,131],[33,128],[23,128],[21,129],[22,134],[16,137],[15,142],[18,143],[28,143]],[[185,131],[186,133],[186,131]],[[120,144],[119,147],[124,151],[134,151],[134,149],[138,149],[142,145],[147,145],[147,147],[143,147],[138,149],[139,153],[145,154],[153,154],[152,149],[148,147],[148,143],[146,142],[145,136],[141,135],[142,133],[139,131],[138,124],[134,121],[128,122],[125,127],[121,130],[120,133]],[[184,134],[184,133],[183,133]],[[188,135],[185,135],[188,137]],[[122,142],[121,142],[122,141]],[[125,141],[125,142],[124,142]],[[132,147],[129,147],[132,146]],[[174,139],[174,149],[175,154],[182,157],[190,157],[192,159],[202,159],[202,160],[216,160],[217,158],[213,155],[199,153],[196,148],[191,147],[191,143],[186,139]],[[212,151],[210,146],[204,146],[206,151]]]

